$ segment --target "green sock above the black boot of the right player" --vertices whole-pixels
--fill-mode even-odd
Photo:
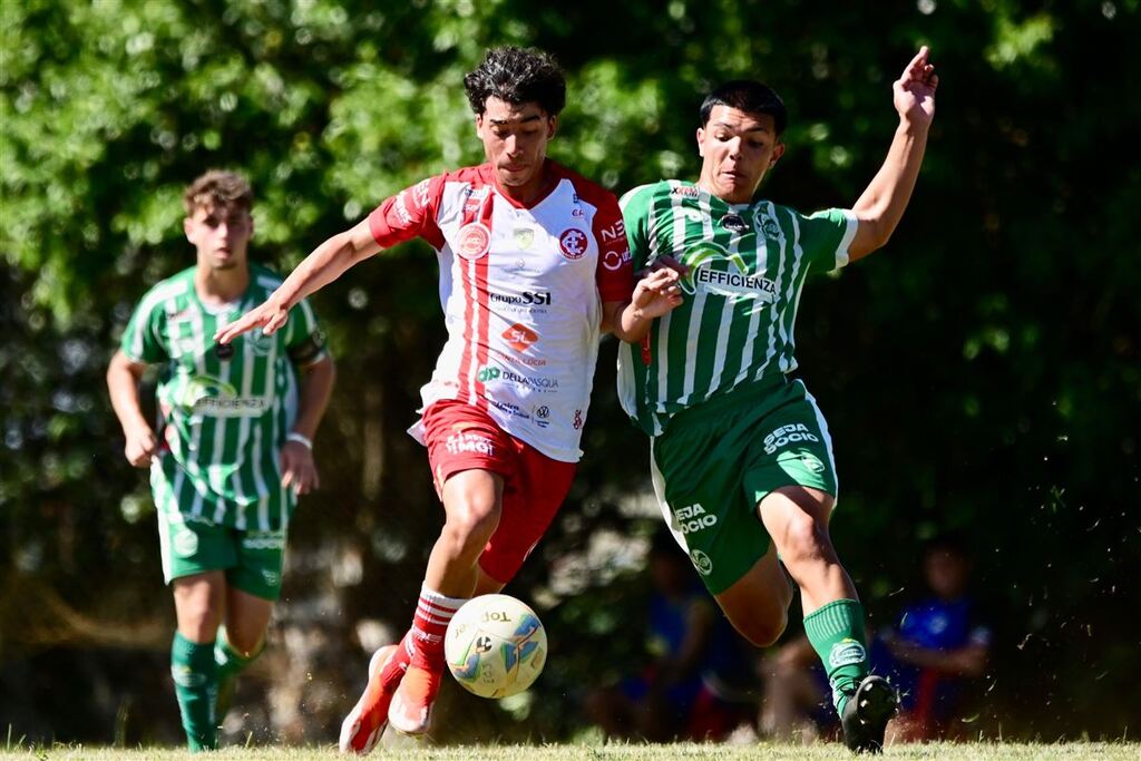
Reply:
[[[804,616],[804,632],[832,685],[832,704],[842,714],[844,704],[867,675],[864,648],[864,606],[856,600],[836,600]]]

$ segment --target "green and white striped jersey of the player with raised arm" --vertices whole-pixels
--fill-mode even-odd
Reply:
[[[729,204],[679,180],[642,185],[621,203],[634,269],[663,254],[689,266],[683,303],[640,347],[618,349],[618,398],[640,428],[657,436],[681,410],[796,369],[804,278],[848,264],[850,211]]]

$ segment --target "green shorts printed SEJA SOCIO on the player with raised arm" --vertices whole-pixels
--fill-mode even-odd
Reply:
[[[650,444],[662,515],[713,594],[769,549],[756,505],[782,486],[836,494],[828,427],[800,381],[738,389],[690,407]]]

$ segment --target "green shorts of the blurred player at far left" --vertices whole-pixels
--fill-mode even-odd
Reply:
[[[175,578],[225,570],[234,589],[276,601],[282,591],[288,528],[237,531],[207,518],[159,509],[162,575]]]

